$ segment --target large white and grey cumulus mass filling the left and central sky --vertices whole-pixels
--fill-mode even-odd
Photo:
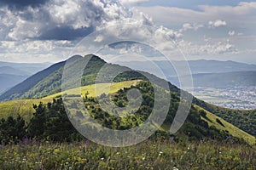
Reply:
[[[147,14],[125,8],[115,0],[40,2],[37,5],[24,3],[19,9],[9,8],[15,3],[5,3],[0,7],[0,56],[51,54],[57,58],[61,54],[62,57],[67,57],[71,51],[69,46],[103,28],[105,34],[98,35],[92,42],[104,43],[120,35],[141,42],[156,37],[159,47],[167,50],[173,47],[166,41],[177,40],[183,36],[181,32],[164,26],[156,27]],[[143,52],[143,48],[136,48],[134,44],[125,47],[125,50]],[[124,53],[122,49],[119,51]]]

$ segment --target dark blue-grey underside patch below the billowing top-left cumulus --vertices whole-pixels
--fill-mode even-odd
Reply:
[[[44,31],[39,36],[41,40],[75,40],[79,37],[85,37],[94,31],[94,27],[73,29],[70,26],[55,27],[49,31]]]

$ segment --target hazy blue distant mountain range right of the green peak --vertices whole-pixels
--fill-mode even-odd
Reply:
[[[179,87],[175,67],[183,65],[183,61],[154,61],[155,65],[166,75],[168,81]],[[149,61],[119,62],[135,70],[156,74]],[[256,86],[256,65],[248,65],[234,61],[189,60],[188,61],[195,87],[230,88],[232,86]],[[173,65],[173,66],[172,66]],[[160,75],[157,75],[160,76]],[[188,77],[188,75],[179,75]]]

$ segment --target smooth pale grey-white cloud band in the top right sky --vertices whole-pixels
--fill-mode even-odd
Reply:
[[[209,20],[222,19],[231,27],[253,27],[256,25],[256,2],[239,3],[237,6],[201,5],[201,10],[175,7],[137,7],[161,25],[172,28],[183,23],[208,24]],[[227,23],[226,23],[227,24]]]

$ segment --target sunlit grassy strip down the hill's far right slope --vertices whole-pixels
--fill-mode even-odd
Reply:
[[[195,106],[198,108],[198,110],[203,110],[201,107],[199,106]],[[204,110],[206,111],[206,110]],[[220,130],[227,130],[230,132],[231,135],[235,136],[235,137],[238,137],[238,138],[242,138],[242,139],[245,139],[248,144],[256,144],[256,139],[255,137],[253,137],[253,135],[249,134],[249,133],[246,133],[244,131],[242,131],[240,128],[232,125],[231,123],[229,122],[226,122],[224,121],[224,119],[212,114],[211,112],[209,111],[206,111],[207,113],[207,119],[202,117],[201,118],[203,120],[205,120],[206,122],[208,122],[208,125],[209,126],[214,126],[214,127],[217,127],[218,129]],[[217,119],[222,122],[224,124],[224,126],[220,125],[218,122],[217,122]],[[209,121],[210,120],[210,121]]]

